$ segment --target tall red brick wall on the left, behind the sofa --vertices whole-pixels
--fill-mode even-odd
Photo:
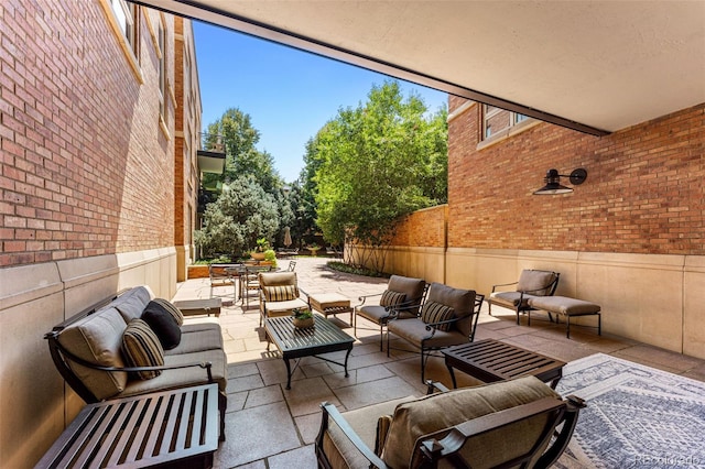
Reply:
[[[173,246],[174,109],[167,138],[144,18],[140,84],[99,1],[50,6],[0,6],[0,266]]]

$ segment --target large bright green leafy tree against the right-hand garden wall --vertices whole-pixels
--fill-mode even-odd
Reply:
[[[360,263],[383,271],[399,217],[445,201],[446,111],[426,119],[423,101],[395,81],[341,109],[307,149],[317,187],[317,223],[330,242],[355,239]]]

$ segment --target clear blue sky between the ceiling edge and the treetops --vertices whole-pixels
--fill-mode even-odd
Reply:
[[[228,108],[250,114],[260,131],[259,150],[275,161],[286,181],[299,177],[308,139],[338,109],[367,100],[387,76],[202,22],[194,22],[204,129]],[[400,81],[404,96],[415,91],[431,111],[447,95]]]

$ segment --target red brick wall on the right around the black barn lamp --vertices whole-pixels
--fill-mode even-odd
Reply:
[[[479,111],[448,124],[449,247],[705,254],[705,105],[603,138],[540,123],[481,150]],[[532,195],[553,167],[587,181]]]

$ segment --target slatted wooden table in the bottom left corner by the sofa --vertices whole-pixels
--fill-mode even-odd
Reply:
[[[35,468],[209,468],[218,421],[217,384],[88,404]]]

